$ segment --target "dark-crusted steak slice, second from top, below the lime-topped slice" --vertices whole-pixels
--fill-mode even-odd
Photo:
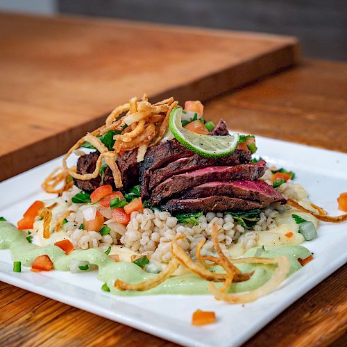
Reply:
[[[194,154],[189,158],[180,158],[175,162],[171,162],[162,169],[154,170],[153,174],[149,177],[148,191],[151,192],[153,187],[162,183],[163,180],[177,175],[183,174],[187,171],[193,171],[196,169],[202,169],[203,167],[213,166],[228,166],[234,167],[239,164],[247,164],[251,162],[251,152],[242,151],[237,149],[232,155],[228,157],[212,159],[204,158],[201,155]]]

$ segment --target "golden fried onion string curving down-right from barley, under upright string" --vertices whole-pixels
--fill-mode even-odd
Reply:
[[[226,274],[225,273],[215,273],[208,271],[208,269],[205,269],[198,263],[194,262],[189,255],[178,246],[178,240],[183,239],[185,235],[180,235],[174,239],[174,241],[171,244],[171,253],[176,257],[176,259],[185,266],[186,269],[189,271],[192,271],[196,275],[200,276],[204,280],[214,281],[214,282],[223,282],[226,280]],[[251,277],[251,273],[239,273],[235,276],[234,282],[243,282],[245,280],[248,280]]]

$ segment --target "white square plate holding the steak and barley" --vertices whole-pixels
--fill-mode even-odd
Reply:
[[[311,200],[332,215],[336,198],[347,192],[347,155],[275,139],[257,137],[259,154],[277,167],[296,172],[296,182]],[[0,183],[0,216],[16,223],[28,205],[46,198],[40,185],[61,158]],[[347,260],[347,222],[321,223],[319,237],[305,242],[314,260],[285,280],[272,294],[246,305],[228,305],[212,296],[117,297],[101,290],[96,272],[76,274],[51,271],[12,272],[9,251],[0,251],[0,280],[53,298],[82,310],[130,325],[187,346],[238,346],[294,303]],[[217,323],[197,328],[191,325],[196,309],[212,310]]]

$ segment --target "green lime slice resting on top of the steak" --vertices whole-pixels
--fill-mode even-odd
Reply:
[[[228,136],[200,135],[182,126],[182,112],[180,107],[171,111],[169,128],[174,137],[188,149],[207,158],[220,158],[231,155],[239,143],[239,134]]]

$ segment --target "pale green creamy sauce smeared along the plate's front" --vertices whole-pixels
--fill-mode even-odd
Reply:
[[[98,278],[107,283],[112,294],[121,296],[137,296],[150,294],[208,294],[208,281],[192,274],[182,276],[171,276],[162,284],[147,291],[119,291],[113,287],[115,280],[137,283],[153,278],[156,275],[144,271],[141,267],[132,262],[115,262],[108,255],[95,248],[87,250],[74,251],[66,255],[58,246],[37,246],[26,240],[24,232],[20,232],[15,226],[7,221],[0,221],[0,249],[10,249],[12,260],[22,262],[23,266],[31,266],[35,257],[39,255],[48,255],[58,271],[69,271],[69,262],[71,260],[82,260],[95,264],[99,268]],[[260,251],[257,252],[257,250]],[[305,259],[311,255],[311,252],[303,246],[266,246],[266,248],[251,248],[244,256],[254,257],[255,253],[260,257],[278,257],[287,255],[290,261],[289,275],[298,269],[301,264],[298,258]],[[259,255],[259,253],[261,253]],[[253,276],[245,282],[233,283],[229,291],[241,292],[251,291],[263,285],[271,278],[275,265],[271,264],[237,264],[242,272],[254,271]],[[214,269],[220,271],[218,266]]]

